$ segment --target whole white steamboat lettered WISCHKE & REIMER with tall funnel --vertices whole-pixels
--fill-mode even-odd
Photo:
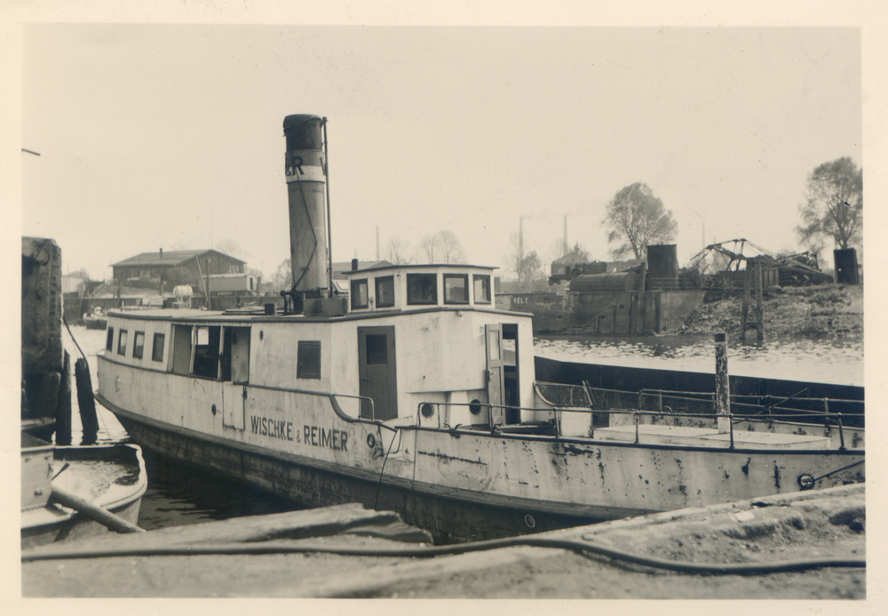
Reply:
[[[692,425],[537,382],[532,315],[496,308],[495,268],[353,262],[337,294],[327,122],[283,127],[282,306],[107,315],[96,398],[136,443],[303,504],[391,509],[436,541],[864,480],[862,428],[741,421],[726,387]]]

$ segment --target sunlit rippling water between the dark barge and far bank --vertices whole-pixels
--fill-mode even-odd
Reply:
[[[536,355],[570,362],[625,365],[687,372],[715,371],[710,336],[546,336],[534,340]],[[863,383],[863,340],[776,340],[728,346],[730,371],[752,377]]]

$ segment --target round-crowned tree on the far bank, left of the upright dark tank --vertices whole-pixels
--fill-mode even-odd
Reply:
[[[622,188],[607,204],[607,217],[602,221],[610,228],[608,242],[620,241],[611,249],[614,258],[633,252],[641,259],[650,244],[666,244],[675,239],[678,222],[662,200],[643,182]]]

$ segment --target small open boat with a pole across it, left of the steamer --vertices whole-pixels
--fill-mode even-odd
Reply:
[[[135,526],[147,473],[135,444],[57,446],[21,433],[21,548],[110,532],[86,511],[105,509],[112,524]],[[63,505],[74,505],[74,508]],[[109,517],[109,516],[105,516]]]

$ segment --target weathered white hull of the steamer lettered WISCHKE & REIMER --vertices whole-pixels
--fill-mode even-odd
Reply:
[[[347,420],[357,412],[337,413],[327,395],[232,386],[133,369],[107,358],[99,362],[99,381],[99,401],[149,448],[311,505],[353,500],[393,505],[408,523],[455,539],[503,530],[478,528],[483,516],[470,524],[445,524],[440,512],[411,500],[510,511],[528,531],[548,528],[550,519],[556,526],[579,524],[797,492],[801,476],[813,477],[813,487],[831,487],[860,481],[864,473],[860,450],[510,435],[439,428],[436,417],[418,412],[390,422],[388,429]],[[242,404],[244,429],[223,420],[233,400]],[[390,502],[379,502],[380,490]],[[507,525],[508,533],[522,530]]]

